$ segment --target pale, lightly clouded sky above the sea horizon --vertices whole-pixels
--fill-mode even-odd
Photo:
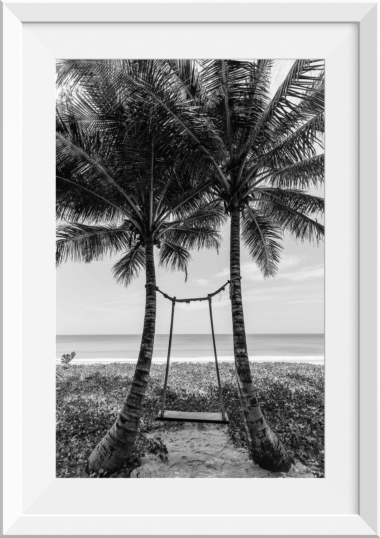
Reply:
[[[282,82],[292,60],[277,61],[272,93]],[[323,195],[318,193],[319,195]],[[156,284],[178,299],[206,296],[229,278],[230,224],[221,230],[219,250],[192,252],[188,282],[184,274],[157,267]],[[241,287],[247,333],[324,332],[324,243],[295,243],[284,237],[276,278],[264,279],[241,245]],[[66,262],[56,270],[56,334],[141,334],[145,309],[145,272],[125,288],[116,283],[106,258],[91,264]],[[228,286],[212,300],[214,330],[232,333]],[[171,302],[157,294],[156,334],[170,328]],[[210,332],[206,301],[177,303],[176,334]]]

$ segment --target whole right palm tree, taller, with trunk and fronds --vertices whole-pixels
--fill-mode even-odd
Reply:
[[[219,155],[206,146],[205,157],[214,170],[217,196],[231,216],[234,356],[249,454],[264,469],[288,471],[288,452],[262,415],[250,372],[240,237],[264,277],[274,277],[285,231],[317,244],[324,235],[316,218],[324,212],[324,200],[309,192],[324,179],[324,62],[295,61],[273,98],[270,60],[203,61],[193,77],[191,63],[171,65],[207,114],[210,138],[221,140]]]

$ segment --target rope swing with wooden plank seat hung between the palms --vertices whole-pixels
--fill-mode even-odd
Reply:
[[[180,422],[212,422],[212,423],[225,423],[228,424],[228,416],[224,409],[224,401],[223,401],[223,392],[221,390],[221,383],[220,383],[220,376],[219,376],[219,366],[218,366],[218,356],[217,356],[217,348],[215,344],[215,335],[214,335],[214,324],[212,321],[212,306],[211,306],[211,299],[214,295],[217,295],[218,293],[225,291],[225,288],[227,284],[230,284],[230,299],[231,294],[233,293],[233,281],[234,280],[240,280],[241,277],[234,278],[231,280],[227,280],[226,284],[221,286],[219,289],[217,289],[216,292],[207,294],[207,297],[197,297],[197,298],[191,298],[191,299],[177,299],[176,297],[170,297],[167,293],[164,293],[159,289],[157,286],[155,286],[155,289],[157,292],[161,293],[161,295],[164,296],[164,298],[171,301],[171,321],[170,321],[170,334],[169,334],[169,345],[168,345],[168,358],[166,361],[166,371],[165,371],[165,381],[163,386],[163,397],[162,397],[162,406],[161,410],[156,416],[156,420],[170,420],[170,421],[180,421]],[[147,287],[149,284],[146,284],[145,287]],[[165,410],[165,399],[166,399],[166,389],[168,385],[168,374],[169,374],[169,362],[170,362],[170,351],[171,351],[171,337],[173,336],[173,321],[174,321],[174,308],[176,302],[185,302],[190,303],[192,301],[208,301],[209,302],[209,310],[210,310],[210,323],[211,323],[211,334],[212,334],[212,343],[214,346],[214,357],[215,357],[215,366],[217,371],[217,379],[218,379],[218,387],[219,387],[219,400],[220,400],[220,407],[221,407],[221,413],[187,413],[182,411],[170,411]]]

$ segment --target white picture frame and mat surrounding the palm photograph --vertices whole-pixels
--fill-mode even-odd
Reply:
[[[374,112],[377,4],[6,2],[2,4],[1,12],[4,535],[377,535],[377,129]],[[54,32],[52,23],[55,24]],[[72,23],[75,23],[76,29],[71,26]],[[329,260],[329,267],[336,267],[339,276],[332,271],[326,273],[326,299],[331,298],[326,303],[326,328],[331,335],[326,337],[326,349],[330,350],[330,356],[336,353],[336,362],[339,353],[343,359],[347,358],[347,362],[343,367],[342,364],[326,361],[326,432],[327,428],[331,432],[331,435],[326,435],[326,479],[312,482],[304,479],[271,479],[269,482],[268,479],[259,479],[263,481],[260,488],[265,492],[262,495],[264,499],[255,498],[257,504],[252,506],[249,495],[254,496],[254,492],[248,489],[247,479],[245,482],[236,482],[240,479],[230,479],[229,482],[225,479],[210,480],[202,482],[202,487],[197,480],[187,481],[186,486],[181,482],[173,485],[170,480],[165,484],[159,479],[149,482],[148,479],[135,480],[131,491],[128,480],[55,479],[52,474],[55,468],[54,436],[45,434],[47,430],[54,430],[55,422],[54,407],[49,405],[54,399],[55,369],[51,356],[55,345],[55,320],[50,309],[54,304],[55,289],[54,226],[50,226],[54,222],[54,204],[51,207],[50,201],[54,200],[55,186],[54,181],[44,182],[41,179],[39,183],[39,177],[54,177],[55,126],[53,114],[46,115],[45,110],[49,107],[54,110],[54,92],[49,90],[51,73],[55,57],[62,56],[53,54],[59,54],[61,50],[59,40],[63,33],[78,36],[80,24],[84,33],[91,32],[88,23],[107,24],[109,29],[113,24],[115,39],[118,39],[120,25],[124,23],[130,24],[130,34],[135,32],[135,36],[137,32],[145,31],[146,23],[173,23],[170,28],[166,26],[165,39],[168,40],[175,35],[175,23],[182,25],[183,36],[188,35],[189,23],[245,23],[239,30],[241,40],[245,39],[249,23],[276,24],[274,35],[278,36],[282,31],[286,33],[286,25],[297,23],[301,29],[302,24],[312,23],[314,26],[325,25],[326,42],[335,31],[340,32],[340,25],[352,25],[347,36],[341,34],[336,43],[331,37],[331,49],[339,47],[346,37],[356,39],[344,49],[353,56],[354,63],[350,66],[347,63],[347,69],[352,69],[352,79],[342,89],[342,78],[334,79],[334,73],[329,72],[326,65],[327,87],[329,80],[334,81],[336,88],[340,87],[340,102],[345,112],[339,115],[332,105],[326,109],[326,162],[330,145],[335,149],[333,153],[340,152],[345,157],[340,161],[336,160],[336,155],[332,157],[331,170],[340,181],[347,180],[343,189],[336,179],[327,185],[326,200],[328,196],[332,201],[338,200],[343,191],[342,201],[346,204],[348,216],[339,244],[333,245],[328,240],[328,226],[331,230],[338,230],[339,226],[336,216],[328,214],[327,207],[326,260]],[[314,39],[313,43],[314,26],[310,30],[310,51],[317,41]],[[161,30],[156,28],[152,24],[149,34],[159,36]],[[233,31],[237,32],[234,28]],[[259,26],[255,28],[260,31]],[[217,36],[217,25],[215,29]],[[72,54],[69,57],[74,57],[78,44],[75,39],[67,41],[65,50]],[[159,48],[159,42],[156,43]],[[356,44],[354,48],[352,43]],[[81,46],[84,47],[81,49],[83,54],[87,44],[82,43]],[[214,50],[217,55],[217,47],[221,46],[222,41],[218,41],[215,50],[212,47],[207,50]],[[287,46],[284,42],[284,49]],[[144,51],[143,44],[140,47]],[[197,56],[197,53],[198,50],[194,55]],[[120,57],[124,57],[122,53]],[[338,65],[336,69],[338,71]],[[355,80],[359,80],[357,93]],[[356,100],[359,116],[350,119],[353,123],[346,124],[345,117],[349,114],[345,105],[351,107],[353,100]],[[336,133],[334,139],[333,132]],[[339,146],[340,132],[346,145]],[[38,141],[43,148],[39,147]],[[357,147],[358,143],[359,159],[356,159],[355,151],[346,154],[349,144]],[[338,210],[339,215],[343,217]],[[48,309],[46,305],[50,305]],[[333,324],[336,325],[335,340],[331,330]],[[340,461],[346,462],[349,469],[343,469],[339,474],[334,465],[328,465],[329,451],[331,462],[339,461],[336,454],[340,452]],[[352,462],[355,463],[351,465]],[[347,484],[345,472],[350,477]],[[169,484],[175,489],[172,497],[168,493]],[[256,486],[257,483],[254,484]],[[350,490],[353,484],[355,492]],[[185,487],[187,493],[184,493]],[[238,493],[241,493],[241,499],[235,502]],[[185,501],[193,499],[193,508],[185,502],[181,505],[181,494],[188,495],[183,497]],[[230,494],[231,498],[223,502],[223,494]],[[292,494],[297,502],[291,502]],[[311,494],[322,498],[323,512],[318,512],[315,506],[310,506],[308,511],[307,504],[302,504],[302,499]],[[142,509],[141,501],[139,504],[143,495],[146,496],[148,510]],[[166,498],[169,495],[173,511],[166,507],[164,495]],[[271,495],[270,502],[268,495]],[[88,501],[90,497],[92,509]],[[101,498],[102,502],[94,504],[96,498]],[[110,500],[114,502],[113,511],[107,505]]]

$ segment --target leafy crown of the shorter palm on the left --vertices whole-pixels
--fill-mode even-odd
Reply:
[[[189,251],[218,249],[225,219],[209,169],[188,173],[173,130],[142,99],[152,69],[89,63],[58,66],[70,93],[56,113],[56,261],[89,263],[121,252],[114,275],[128,285],[144,268],[151,242],[162,266],[187,276]],[[139,91],[132,82],[123,91],[119,77],[127,75]]]

